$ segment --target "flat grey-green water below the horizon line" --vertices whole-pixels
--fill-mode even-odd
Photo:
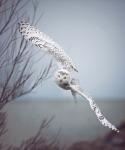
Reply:
[[[115,125],[125,120],[125,102],[96,101],[105,117]],[[86,101],[16,101],[5,107],[8,112],[4,141],[18,145],[35,135],[44,118],[55,116],[44,134],[54,136],[60,130],[61,143],[92,140],[110,129],[103,127]]]

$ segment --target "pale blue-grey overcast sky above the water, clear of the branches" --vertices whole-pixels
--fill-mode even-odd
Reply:
[[[30,5],[27,10],[32,13]],[[125,98],[124,0],[41,0],[38,13],[37,27],[74,60],[83,89],[95,98]],[[52,78],[31,96],[71,98]]]

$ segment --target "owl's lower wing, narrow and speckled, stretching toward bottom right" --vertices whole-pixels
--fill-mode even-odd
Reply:
[[[75,85],[71,85],[71,90],[78,93],[83,98],[85,98],[86,100],[89,101],[91,109],[95,112],[98,120],[101,122],[102,125],[107,126],[116,132],[119,132],[119,130],[104,117],[104,115],[101,113],[99,107],[94,102],[94,100],[92,99],[91,96],[84,94],[84,92],[82,92],[80,89],[78,89]]]

